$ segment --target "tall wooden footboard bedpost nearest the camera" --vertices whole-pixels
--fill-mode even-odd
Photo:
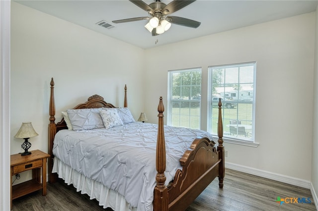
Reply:
[[[158,135],[157,135],[157,151],[156,151],[156,187],[154,190],[154,211],[168,211],[168,190],[164,185],[165,182],[165,143],[163,129],[163,111],[164,106],[162,97],[160,97],[158,105]]]

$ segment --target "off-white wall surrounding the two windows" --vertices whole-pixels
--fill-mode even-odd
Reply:
[[[167,70],[202,67],[201,127],[206,129],[207,67],[256,61],[260,145],[225,143],[226,161],[310,181],[314,42],[315,13],[308,13],[146,50],[147,117],[157,122],[159,96],[166,103]]]

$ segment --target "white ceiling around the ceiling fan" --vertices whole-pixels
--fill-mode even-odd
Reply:
[[[154,0],[145,0],[150,4]],[[165,33],[152,36],[147,20],[114,24],[111,21],[148,16],[128,0],[15,0],[63,20],[122,40],[143,49],[228,31],[244,26],[316,11],[318,0],[196,0],[169,15],[201,22],[194,29],[172,24]],[[171,0],[162,0],[168,4]],[[96,25],[105,20],[115,27]]]

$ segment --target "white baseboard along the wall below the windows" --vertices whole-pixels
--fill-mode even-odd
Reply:
[[[298,187],[311,189],[311,182],[308,180],[299,179],[299,178],[295,178],[295,177],[291,177],[291,176],[286,176],[283,174],[277,174],[277,173],[273,173],[273,172],[269,172],[269,171],[264,171],[264,170],[260,170],[257,168],[251,168],[251,167],[247,167],[247,166],[243,166],[243,165],[239,165],[239,164],[235,164],[235,163],[231,163],[231,162],[225,162],[225,167],[232,169],[232,170],[244,172],[247,174],[252,174],[252,175],[264,177],[267,179],[272,179],[275,181],[284,182],[284,183],[287,183],[290,185],[295,185]]]

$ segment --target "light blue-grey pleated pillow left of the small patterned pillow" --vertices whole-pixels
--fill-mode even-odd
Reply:
[[[104,127],[99,114],[102,108],[69,109],[67,113],[73,130],[91,130]]]

